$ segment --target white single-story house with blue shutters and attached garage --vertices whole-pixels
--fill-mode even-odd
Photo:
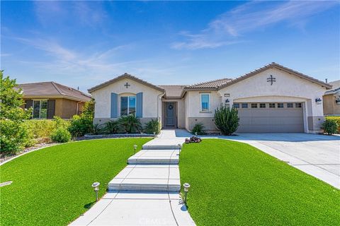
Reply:
[[[220,105],[239,110],[237,132],[318,133],[324,121],[322,95],[331,85],[272,63],[239,78],[195,85],[152,85],[128,73],[96,85],[94,123],[135,114],[142,123],[158,119],[163,128],[188,131],[203,123],[216,131]]]

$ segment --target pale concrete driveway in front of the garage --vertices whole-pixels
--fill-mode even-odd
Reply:
[[[190,133],[176,131],[178,136]],[[340,189],[340,136],[310,133],[239,133],[238,136],[203,136],[249,143]]]

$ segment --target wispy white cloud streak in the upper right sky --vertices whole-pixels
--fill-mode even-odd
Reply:
[[[251,1],[238,6],[212,20],[207,28],[193,34],[181,32],[184,41],[174,42],[174,49],[216,48],[242,42],[246,32],[266,28],[286,21],[302,25],[297,21],[307,20],[316,13],[339,5],[339,1]]]

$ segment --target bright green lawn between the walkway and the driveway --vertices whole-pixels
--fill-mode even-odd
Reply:
[[[235,141],[183,146],[181,184],[197,225],[340,225],[340,191]]]

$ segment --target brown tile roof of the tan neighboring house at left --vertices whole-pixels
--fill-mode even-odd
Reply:
[[[21,90],[23,90],[24,96],[61,95],[64,98],[77,99],[81,101],[91,100],[90,95],[86,95],[79,90],[75,90],[74,88],[55,82],[18,84],[17,88],[21,88]]]

